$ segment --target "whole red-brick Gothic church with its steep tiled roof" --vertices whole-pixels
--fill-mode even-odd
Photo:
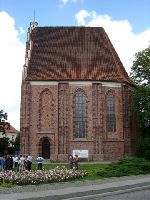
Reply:
[[[89,160],[134,153],[134,87],[101,27],[38,27],[27,33],[21,88],[21,153]]]

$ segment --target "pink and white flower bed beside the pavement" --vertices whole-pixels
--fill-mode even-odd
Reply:
[[[12,183],[17,185],[54,183],[78,179],[86,176],[87,173],[82,170],[68,170],[65,167],[56,167],[52,170],[37,171],[3,171],[0,172],[1,183]]]

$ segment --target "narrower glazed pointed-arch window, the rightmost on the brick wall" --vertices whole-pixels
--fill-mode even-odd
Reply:
[[[115,98],[111,90],[107,94],[107,125],[108,132],[116,131]]]

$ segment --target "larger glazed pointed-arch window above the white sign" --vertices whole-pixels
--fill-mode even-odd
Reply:
[[[75,138],[86,137],[86,96],[82,90],[74,95],[74,136]]]

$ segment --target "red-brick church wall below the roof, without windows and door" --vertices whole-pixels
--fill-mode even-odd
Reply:
[[[21,153],[42,154],[42,140],[50,142],[50,160],[66,160],[74,149],[89,151],[90,160],[116,160],[131,155],[131,116],[128,86],[71,82],[22,85]],[[87,100],[86,138],[73,134],[73,97],[81,89]],[[116,131],[107,131],[107,91],[115,96]]]

